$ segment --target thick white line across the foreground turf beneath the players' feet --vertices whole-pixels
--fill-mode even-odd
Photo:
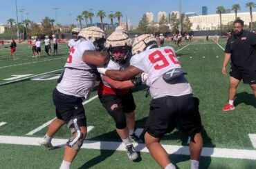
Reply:
[[[38,141],[41,137],[17,137],[17,136],[0,136],[0,143],[39,146]],[[64,147],[66,139],[53,139],[53,146]],[[168,154],[190,155],[188,146],[162,145]],[[119,150],[126,151],[122,142],[116,141],[84,141],[82,148],[95,150]],[[138,143],[135,147],[138,152],[149,152],[144,143]],[[203,148],[201,156],[219,157],[229,159],[252,159],[256,160],[256,150],[243,150],[232,148]]]

